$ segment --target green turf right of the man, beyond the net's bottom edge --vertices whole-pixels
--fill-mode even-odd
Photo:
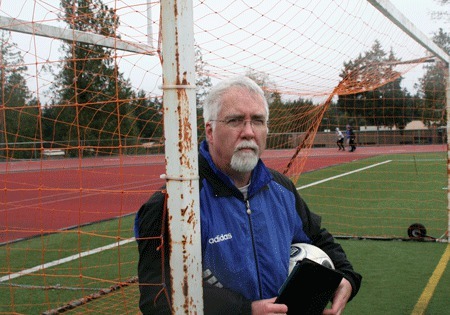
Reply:
[[[305,190],[300,194],[335,235],[408,237],[424,224],[429,235],[447,229],[445,153],[388,155],[303,174],[297,186],[390,161]]]

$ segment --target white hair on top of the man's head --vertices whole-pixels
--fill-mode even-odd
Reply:
[[[205,124],[211,120],[217,119],[222,108],[223,95],[234,87],[244,88],[251,93],[261,96],[267,113],[266,119],[269,119],[269,104],[267,103],[264,91],[261,87],[248,77],[236,76],[219,82],[209,92],[203,103],[203,119]]]

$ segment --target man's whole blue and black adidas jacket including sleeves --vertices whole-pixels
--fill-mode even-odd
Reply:
[[[352,297],[356,294],[361,276],[353,271],[340,245],[320,227],[320,217],[309,211],[289,178],[260,160],[244,199],[231,179],[216,168],[206,142],[200,146],[199,174],[205,314],[250,313],[251,301],[277,296],[288,275],[292,243],[322,248],[352,284]],[[135,220],[144,314],[169,312],[164,294],[158,296],[170,284],[168,248],[157,252],[161,239],[143,239],[168,237],[163,205],[164,194],[158,192],[141,207]],[[166,246],[168,243],[164,241]],[[164,267],[161,256],[166,257]],[[145,283],[161,285],[142,285]],[[167,294],[170,299],[170,289]]]

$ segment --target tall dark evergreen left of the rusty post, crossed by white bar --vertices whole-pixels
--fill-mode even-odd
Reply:
[[[61,7],[61,18],[72,29],[116,36],[119,19],[101,0],[62,0]],[[138,133],[130,108],[133,91],[114,64],[113,51],[65,42],[63,52],[65,61],[52,86],[54,98],[44,111],[45,137],[78,146],[73,155],[89,146],[97,153],[111,153],[111,148],[133,144]]]

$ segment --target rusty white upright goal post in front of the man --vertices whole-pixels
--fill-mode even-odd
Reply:
[[[173,314],[202,314],[195,53],[191,0],[161,2],[167,211]]]

